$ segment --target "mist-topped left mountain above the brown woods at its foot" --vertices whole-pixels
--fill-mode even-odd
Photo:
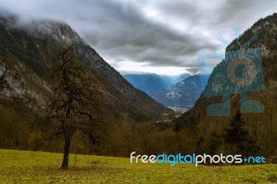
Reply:
[[[69,25],[45,20],[21,24],[15,16],[0,17],[0,104],[3,107],[16,108],[19,102],[21,110],[43,108],[51,95],[48,74],[62,44],[73,45],[75,55],[82,56],[91,75],[100,81],[106,95],[103,105],[108,118],[141,121],[171,112],[129,84]]]

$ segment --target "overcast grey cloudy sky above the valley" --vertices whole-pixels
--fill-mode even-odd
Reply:
[[[199,70],[198,55],[224,50],[258,19],[277,11],[259,0],[0,0],[22,19],[65,21],[120,73],[176,75]]]

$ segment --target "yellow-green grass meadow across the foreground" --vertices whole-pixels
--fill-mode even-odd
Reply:
[[[0,149],[0,183],[277,183],[277,165],[204,166],[138,163],[129,158]]]

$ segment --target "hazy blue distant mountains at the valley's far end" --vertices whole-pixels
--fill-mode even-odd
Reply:
[[[123,75],[137,89],[168,107],[192,107],[206,85],[208,75],[184,73],[175,77],[157,74]]]

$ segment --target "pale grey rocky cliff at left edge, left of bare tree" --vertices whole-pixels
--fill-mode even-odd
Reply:
[[[0,98],[20,99],[37,109],[44,106],[50,93],[50,86],[17,58],[6,55],[0,59]]]

